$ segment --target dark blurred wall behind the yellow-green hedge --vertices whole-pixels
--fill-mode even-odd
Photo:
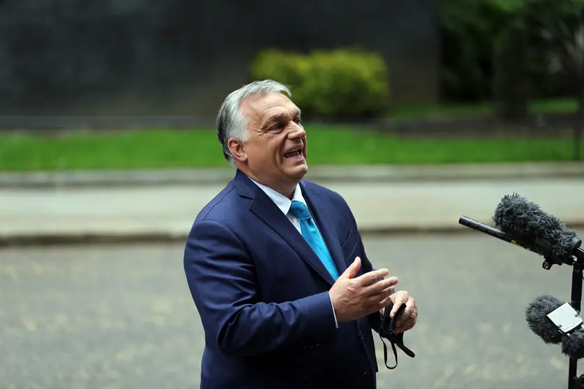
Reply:
[[[1,115],[214,116],[264,47],[361,47],[395,102],[439,96],[435,0],[4,0]]]

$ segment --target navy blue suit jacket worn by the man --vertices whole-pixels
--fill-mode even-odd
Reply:
[[[339,273],[357,256],[357,275],[370,271],[343,197],[300,186]],[[333,278],[241,171],[197,215],[184,269],[205,333],[201,389],[375,388],[379,315],[336,328]]]

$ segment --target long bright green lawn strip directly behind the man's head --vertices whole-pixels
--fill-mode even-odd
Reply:
[[[400,139],[359,128],[306,131],[311,165],[571,160],[573,153],[571,139]],[[227,167],[214,130],[0,135],[0,171],[175,167]]]

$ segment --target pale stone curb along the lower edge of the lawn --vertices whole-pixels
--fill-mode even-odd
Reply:
[[[0,174],[0,188],[116,188],[159,185],[225,185],[234,169],[139,171],[57,171]],[[540,162],[465,165],[316,166],[306,174],[325,183],[403,181],[521,180],[584,178],[584,162]]]

